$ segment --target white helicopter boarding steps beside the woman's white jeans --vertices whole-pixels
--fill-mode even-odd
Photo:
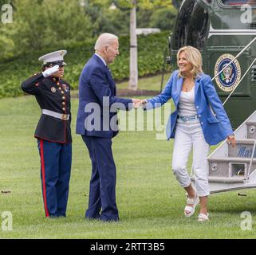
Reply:
[[[234,131],[234,135],[236,147],[225,140],[207,158],[211,194],[256,187],[256,149],[251,161],[256,139],[256,111]],[[193,175],[191,181],[195,186]]]

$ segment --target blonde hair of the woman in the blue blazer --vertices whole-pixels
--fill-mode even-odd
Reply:
[[[197,77],[200,73],[203,73],[202,65],[202,55],[199,52],[198,49],[192,47],[192,46],[184,46],[179,49],[177,53],[177,65],[179,66],[179,55],[180,53],[184,52],[187,57],[187,61],[191,63],[193,66],[193,69],[191,70],[191,74],[193,75],[194,79]],[[179,77],[184,77],[183,73],[179,71]]]

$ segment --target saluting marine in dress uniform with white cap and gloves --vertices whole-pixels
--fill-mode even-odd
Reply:
[[[61,77],[64,55],[60,50],[39,57],[42,72],[22,82],[22,90],[36,97],[41,108],[34,137],[41,158],[41,188],[45,217],[65,217],[72,161],[70,85]]]

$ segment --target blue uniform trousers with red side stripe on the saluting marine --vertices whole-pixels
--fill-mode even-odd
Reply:
[[[37,143],[45,216],[65,217],[72,161],[71,143],[51,143],[43,139],[37,139]]]

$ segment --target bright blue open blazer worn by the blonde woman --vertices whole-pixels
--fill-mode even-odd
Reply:
[[[175,137],[177,108],[182,84],[183,78],[179,77],[179,71],[176,70],[163,88],[163,92],[159,96],[147,100],[146,109],[148,110],[160,107],[172,98],[176,110],[171,113],[167,123],[167,139]],[[228,135],[234,134],[223,104],[211,82],[211,77],[204,73],[195,79],[195,109],[199,116],[204,138],[210,145],[215,145],[226,139]]]

